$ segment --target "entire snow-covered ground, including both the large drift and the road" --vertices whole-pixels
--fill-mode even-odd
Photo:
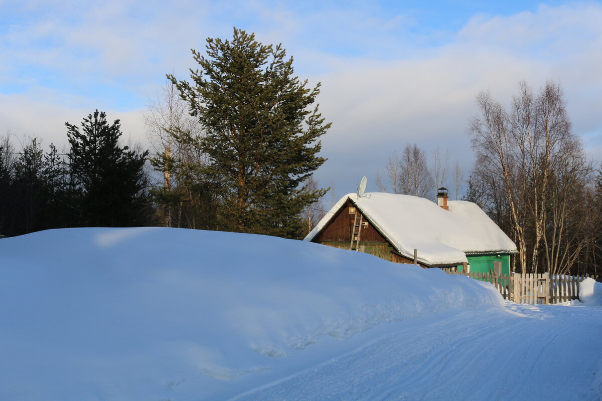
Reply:
[[[49,230],[0,240],[0,273],[1,400],[602,394],[602,308],[313,243]]]

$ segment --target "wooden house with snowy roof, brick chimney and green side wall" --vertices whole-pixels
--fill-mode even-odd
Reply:
[[[396,263],[509,274],[517,247],[474,203],[409,195],[345,195],[305,240]]]

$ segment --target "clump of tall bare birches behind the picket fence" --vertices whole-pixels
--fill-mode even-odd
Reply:
[[[571,132],[562,88],[547,82],[535,95],[521,82],[509,112],[486,92],[477,106],[480,115],[469,128],[478,166],[473,176],[488,183],[494,200],[501,186],[521,272],[541,270],[542,257],[542,269],[567,271],[581,251],[567,225],[582,203],[573,195],[591,182],[592,166]],[[577,221],[572,225],[577,230]]]

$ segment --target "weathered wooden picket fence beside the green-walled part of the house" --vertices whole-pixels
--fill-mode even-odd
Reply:
[[[463,273],[447,271],[447,274],[461,274],[474,280],[487,281],[501,293],[504,299],[517,304],[557,304],[579,299],[579,283],[590,277],[550,274],[518,274],[495,275],[490,273]],[[592,276],[599,280],[600,276]]]

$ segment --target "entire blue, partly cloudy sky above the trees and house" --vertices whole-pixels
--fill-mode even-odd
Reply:
[[[574,130],[600,161],[600,21],[593,1],[0,0],[0,132],[61,145],[64,121],[98,108],[145,141],[140,114],[165,74],[187,78],[190,48],[237,26],[282,43],[300,78],[322,83],[333,126],[316,176],[339,195],[406,142],[449,149],[468,171],[474,96],[508,102],[520,80],[562,83]]]

